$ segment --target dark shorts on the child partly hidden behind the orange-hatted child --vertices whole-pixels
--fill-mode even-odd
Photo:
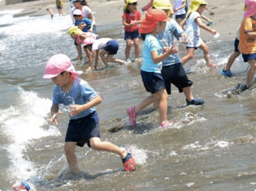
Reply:
[[[184,67],[181,63],[170,66],[163,66],[162,76],[167,90],[167,94],[171,94],[171,83],[175,85],[180,92],[184,87],[191,87],[193,82],[187,77]]]

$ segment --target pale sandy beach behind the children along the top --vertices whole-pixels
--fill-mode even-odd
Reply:
[[[148,0],[138,1],[138,8],[144,6]],[[189,2],[189,6],[191,1]],[[119,22],[121,23],[121,15],[123,12],[124,1],[123,0],[96,0],[88,1],[90,8],[92,9],[98,24]],[[241,0],[216,0],[208,1],[208,11],[205,11],[203,15],[214,21],[210,26],[217,30],[222,40],[232,40],[236,36],[236,28],[241,22],[241,15],[243,14],[244,3]],[[173,5],[173,2],[171,1]],[[23,9],[19,14],[15,16],[38,16],[46,15],[46,8],[51,8],[54,13],[57,13],[57,9],[54,1],[41,0],[33,2],[23,2],[14,5],[1,6],[0,11],[3,10],[16,10]],[[63,13],[69,14],[69,1],[64,0]],[[202,31],[202,39],[212,39],[210,32]]]

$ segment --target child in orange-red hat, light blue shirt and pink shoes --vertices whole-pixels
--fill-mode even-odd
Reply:
[[[141,66],[141,78],[146,91],[151,93],[136,107],[128,108],[129,121],[136,125],[137,113],[150,104],[157,103],[160,116],[160,126],[169,125],[167,121],[167,91],[165,90],[161,75],[162,61],[170,54],[177,53],[173,47],[166,47],[157,38],[157,33],[162,33],[168,20],[167,14],[159,9],[151,9],[145,14],[141,22],[141,37],[145,40],[143,47],[143,62]],[[164,53],[163,53],[164,52]]]

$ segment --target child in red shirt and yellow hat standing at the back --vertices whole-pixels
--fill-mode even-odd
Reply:
[[[131,63],[130,51],[132,47],[132,40],[135,49],[135,61],[140,55],[140,33],[138,23],[141,23],[141,13],[137,11],[137,0],[127,0],[124,6],[124,14],[122,15],[124,24],[124,40],[125,47],[125,62]]]

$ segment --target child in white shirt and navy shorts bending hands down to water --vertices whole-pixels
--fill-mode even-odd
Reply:
[[[89,51],[91,56],[94,57],[94,53],[96,51],[95,57],[95,70],[98,69],[98,55],[102,58],[102,62],[106,66],[109,66],[108,62],[116,62],[119,64],[124,64],[125,62],[119,60],[117,58],[113,58],[113,56],[117,53],[119,49],[119,45],[115,40],[110,38],[101,38],[101,39],[93,39],[93,38],[86,38],[84,40],[84,49],[85,52]],[[93,59],[93,58],[92,58]]]

